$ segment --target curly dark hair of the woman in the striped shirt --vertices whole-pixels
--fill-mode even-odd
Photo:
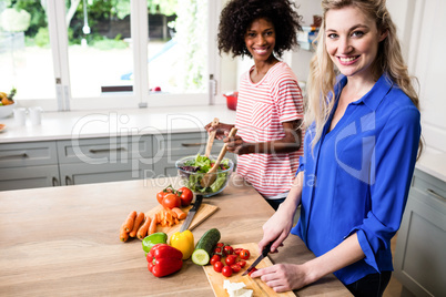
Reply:
[[[274,53],[281,58],[284,51],[298,47],[302,17],[293,8],[296,7],[290,0],[231,0],[220,16],[220,53],[252,57],[245,45],[246,30],[255,19],[265,18],[274,24]]]

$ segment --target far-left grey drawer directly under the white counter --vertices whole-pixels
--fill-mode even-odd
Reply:
[[[58,164],[55,142],[0,144],[0,167]]]

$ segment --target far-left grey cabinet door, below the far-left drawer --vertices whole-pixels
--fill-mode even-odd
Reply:
[[[0,191],[60,185],[58,165],[0,170]]]

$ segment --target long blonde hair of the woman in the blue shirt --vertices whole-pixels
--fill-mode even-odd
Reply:
[[[321,139],[322,131],[333,110],[334,86],[336,84],[336,70],[331,60],[325,44],[325,16],[331,9],[341,9],[353,6],[363,11],[366,16],[375,19],[378,31],[387,31],[387,37],[379,43],[376,60],[372,65],[372,73],[377,81],[383,73],[386,73],[397,86],[408,96],[419,110],[418,94],[415,91],[408,74],[407,65],[404,62],[399,40],[396,34],[396,27],[391,19],[385,0],[323,0],[323,21],[316,39],[316,53],[310,63],[310,76],[307,88],[307,102],[305,113],[305,125],[310,126],[315,122],[315,137],[313,147]],[[333,100],[332,100],[333,99]],[[419,143],[422,148],[423,143]],[[419,150],[420,152],[420,150]]]

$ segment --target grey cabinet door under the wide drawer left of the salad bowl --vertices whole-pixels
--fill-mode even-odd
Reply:
[[[93,184],[120,182],[153,177],[151,165],[134,166],[128,164],[61,164],[60,176],[62,185]]]

